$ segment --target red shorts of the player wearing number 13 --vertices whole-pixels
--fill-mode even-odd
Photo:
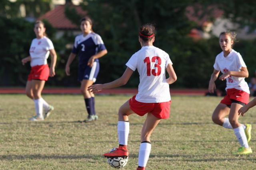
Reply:
[[[137,115],[143,116],[146,113],[152,113],[157,118],[168,119],[170,117],[170,105],[172,101],[162,103],[142,103],[135,100],[133,96],[129,100],[130,109]]]

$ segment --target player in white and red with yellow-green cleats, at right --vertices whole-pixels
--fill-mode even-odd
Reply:
[[[249,102],[250,91],[244,78],[248,77],[248,70],[240,53],[232,49],[236,34],[230,31],[220,33],[219,43],[222,52],[216,56],[214,71],[209,82],[209,92],[213,93],[215,80],[220,72],[220,80],[226,79],[227,95],[220,101],[212,114],[212,121],[228,129],[233,129],[241,145],[234,154],[252,153],[248,143],[251,139],[250,124],[238,122],[238,110]],[[228,115],[228,118],[225,116]]]

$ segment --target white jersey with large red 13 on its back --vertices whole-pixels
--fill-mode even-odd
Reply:
[[[160,103],[171,100],[165,76],[168,64],[172,64],[169,55],[154,46],[144,46],[132,55],[126,66],[133,71],[137,69],[140,74],[137,101]]]

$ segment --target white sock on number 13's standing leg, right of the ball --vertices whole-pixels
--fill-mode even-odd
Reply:
[[[140,144],[138,166],[146,167],[148,162],[149,154],[151,150],[151,143],[148,141],[142,142]]]

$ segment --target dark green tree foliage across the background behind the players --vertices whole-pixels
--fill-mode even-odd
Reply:
[[[22,0],[20,0],[22,1]],[[26,1],[26,0],[23,0]],[[29,0],[27,0],[29,1]],[[18,2],[18,1],[17,1]],[[42,1],[50,2],[50,0]],[[3,2],[0,2],[3,3]],[[11,2],[4,2],[11,6]],[[246,12],[248,4],[238,1],[198,0],[202,8],[209,5],[217,5],[224,10],[224,16],[244,26],[249,25],[253,30],[256,28],[254,13]],[[5,5],[6,5],[5,4]],[[190,30],[196,27],[196,23],[189,21],[185,12],[188,6],[195,4],[191,0],[84,0],[81,4],[94,20],[93,30],[98,33],[108,50],[108,54],[100,59],[100,73],[96,83],[112,81],[122,76],[126,69],[126,62],[132,54],[138,51],[138,30],[144,23],[154,23],[157,29],[154,45],[163,49],[170,55],[178,81],[172,87],[176,88],[207,88],[210,75],[213,70],[215,57],[221,52],[218,37],[210,39],[194,40],[188,36]],[[250,6],[254,2],[249,3]],[[72,23],[80,24],[80,16],[68,8],[66,16]],[[16,8],[16,7],[15,7]],[[13,8],[13,9],[15,9]],[[42,8],[43,9],[43,8]],[[232,11],[232,9],[235,9]],[[4,11],[5,10],[5,11]],[[22,66],[20,60],[28,54],[29,46],[35,37],[33,23],[20,18],[8,18],[15,16],[15,10],[6,11],[0,6],[0,29],[3,30],[0,38],[2,50],[0,51],[0,85],[24,85],[26,76],[30,70],[29,64]],[[251,8],[248,8],[251,11]],[[4,15],[6,14],[6,15]],[[202,15],[206,12],[202,12]],[[232,15],[230,15],[232,14]],[[200,17],[200,16],[199,16]],[[61,39],[54,39],[56,29],[46,22],[47,34],[54,43],[58,54],[56,76],[51,78],[47,85],[51,86],[78,86],[77,65],[78,59],[71,64],[72,76],[65,75],[65,64],[71,49],[67,44],[74,43],[74,35],[66,31]],[[256,58],[254,44],[256,40],[240,41],[234,45],[234,49],[241,53],[248,66],[250,75],[254,74]],[[50,57],[49,57],[50,58]],[[48,60],[50,62],[50,60]],[[139,75],[134,72],[126,87],[136,87]]]

